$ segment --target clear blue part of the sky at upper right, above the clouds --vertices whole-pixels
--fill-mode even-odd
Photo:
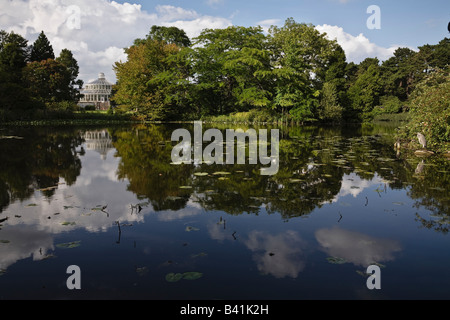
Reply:
[[[126,1],[117,1],[126,2]],[[345,32],[363,33],[372,42],[384,47],[404,45],[417,47],[437,43],[448,37],[450,1],[429,0],[216,0],[216,1],[134,1],[148,12],[165,4],[193,9],[201,14],[221,16],[234,25],[253,26],[264,20],[293,17],[297,22],[313,25],[337,25]],[[369,30],[367,8],[381,9],[381,29]]]

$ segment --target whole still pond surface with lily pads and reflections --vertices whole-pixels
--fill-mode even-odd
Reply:
[[[279,128],[275,176],[174,165],[181,127],[1,129],[0,299],[450,298],[449,160],[372,125]]]

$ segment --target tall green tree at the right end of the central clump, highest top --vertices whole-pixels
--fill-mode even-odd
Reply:
[[[340,46],[326,39],[314,26],[287,19],[283,27],[271,27],[270,43],[275,80],[275,106],[299,121],[314,120],[320,90]],[[345,62],[345,55],[343,56]],[[335,65],[336,71],[345,67]],[[345,70],[345,69],[342,69]],[[340,71],[339,71],[340,72]],[[329,74],[331,76],[331,74]]]

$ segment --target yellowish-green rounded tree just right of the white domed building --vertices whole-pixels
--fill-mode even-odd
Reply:
[[[188,113],[189,60],[186,48],[158,40],[135,41],[128,60],[116,62],[113,101],[149,120],[171,120]]]

